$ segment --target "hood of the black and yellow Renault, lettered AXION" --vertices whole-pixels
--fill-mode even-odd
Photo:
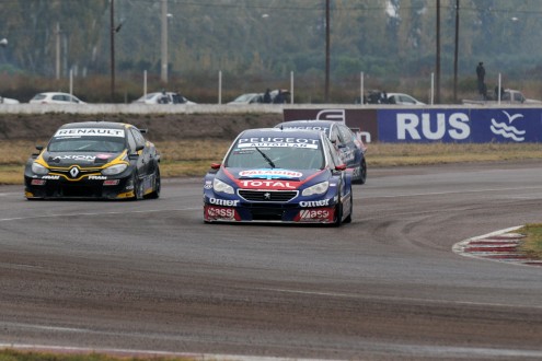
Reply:
[[[96,167],[111,163],[125,152],[49,152],[42,153],[42,159],[51,167],[79,165],[80,167]]]

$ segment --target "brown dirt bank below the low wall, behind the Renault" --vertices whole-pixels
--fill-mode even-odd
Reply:
[[[0,114],[1,140],[46,140],[66,123],[108,120],[129,123],[148,129],[151,141],[176,139],[233,139],[247,128],[273,127],[281,114],[158,114],[88,115],[49,113],[39,115]]]

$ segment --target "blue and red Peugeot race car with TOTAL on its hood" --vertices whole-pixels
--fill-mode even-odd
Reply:
[[[351,173],[322,131],[242,131],[204,178],[204,221],[341,225],[351,221]]]

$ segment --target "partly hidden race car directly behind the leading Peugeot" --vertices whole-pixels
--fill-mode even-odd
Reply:
[[[334,120],[290,120],[279,123],[276,128],[314,129],[324,131],[336,147],[338,156],[353,171],[354,183],[367,182],[367,147],[361,138],[344,123]]]

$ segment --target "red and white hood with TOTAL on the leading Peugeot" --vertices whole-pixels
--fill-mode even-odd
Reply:
[[[245,189],[298,189],[327,179],[326,170],[221,168],[218,176]]]

